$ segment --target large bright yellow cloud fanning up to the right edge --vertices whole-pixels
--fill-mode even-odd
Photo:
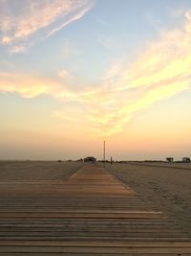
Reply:
[[[182,28],[162,32],[133,64],[119,68],[116,62],[109,69],[107,97],[110,95],[113,100],[113,111],[96,108],[95,122],[100,124],[100,133],[116,133],[139,110],[190,88],[191,11],[185,12],[184,17]],[[102,113],[99,122],[98,116]],[[103,121],[106,125],[101,127]]]

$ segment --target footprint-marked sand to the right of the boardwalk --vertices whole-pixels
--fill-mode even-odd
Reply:
[[[106,169],[152,206],[176,221],[191,237],[190,164],[107,164]]]

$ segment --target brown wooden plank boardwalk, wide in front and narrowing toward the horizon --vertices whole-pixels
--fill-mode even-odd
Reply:
[[[1,182],[0,255],[183,256],[191,241],[94,164],[65,181]]]

